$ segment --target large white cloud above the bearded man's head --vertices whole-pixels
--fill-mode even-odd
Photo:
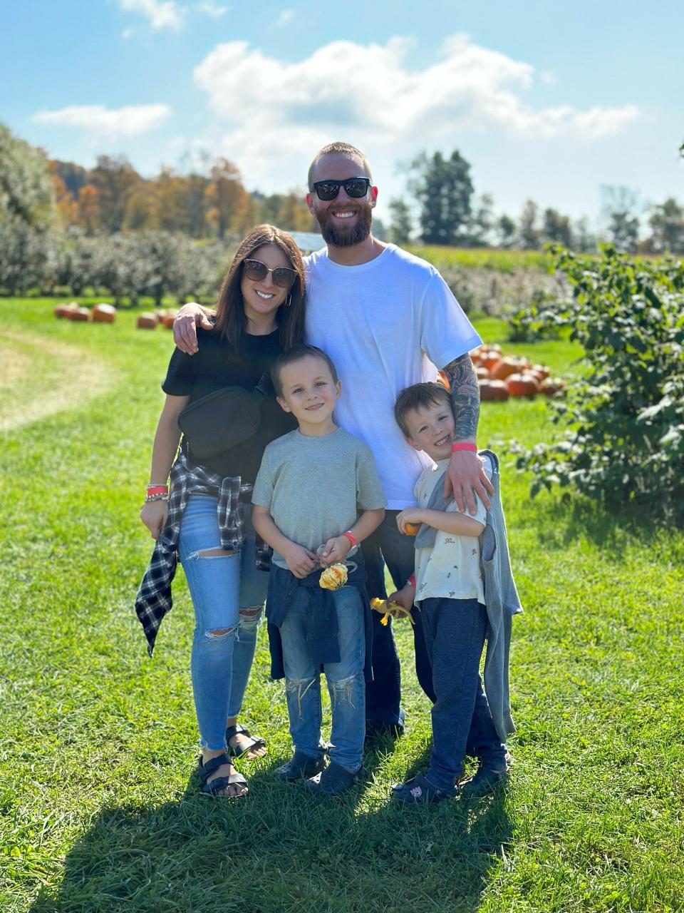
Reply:
[[[217,45],[194,70],[219,123],[228,128],[221,152],[261,186],[281,174],[302,173],[302,156],[335,139],[393,158],[420,147],[460,145],[464,132],[543,139],[594,140],[622,130],[638,116],[634,105],[534,107],[534,67],[473,44],[447,38],[430,66],[410,64],[411,42],[335,41],[300,62],[269,56],[246,41]],[[303,174],[302,174],[303,176]]]

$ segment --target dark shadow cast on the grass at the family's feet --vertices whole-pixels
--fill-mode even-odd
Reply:
[[[511,837],[503,789],[406,808],[375,782],[316,799],[277,782],[273,766],[251,774],[244,799],[201,796],[191,778],[175,801],[103,809],[32,913],[479,907]]]

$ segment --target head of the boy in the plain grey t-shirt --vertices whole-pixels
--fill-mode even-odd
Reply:
[[[295,416],[303,435],[323,436],[337,429],[332,416],[340,385],[322,358],[306,355],[286,364],[280,369],[280,386],[278,403]]]

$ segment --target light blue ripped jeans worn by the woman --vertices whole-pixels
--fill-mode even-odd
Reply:
[[[268,574],[254,563],[251,520],[245,523],[242,554],[202,554],[221,549],[216,506],[216,498],[192,495],[178,542],[195,611],[191,672],[200,743],[211,750],[226,747],[226,719],[242,707],[268,587]]]

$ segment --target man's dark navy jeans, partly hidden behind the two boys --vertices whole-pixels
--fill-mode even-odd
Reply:
[[[413,536],[405,536],[397,528],[399,510],[387,510],[385,519],[361,549],[368,575],[368,595],[387,597],[385,588],[385,564],[398,590],[409,580],[415,570],[416,551]],[[384,561],[383,561],[384,559]],[[420,612],[413,613],[413,642],[416,652],[416,675],[420,687],[431,701],[435,694],[432,689],[430,658],[425,647]],[[401,674],[399,656],[394,644],[391,623],[380,624],[381,615],[373,613],[373,681],[366,688],[366,716],[369,720],[396,723],[399,721],[401,698]]]

